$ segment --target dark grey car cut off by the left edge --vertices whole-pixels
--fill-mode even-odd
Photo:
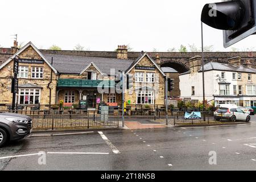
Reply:
[[[32,119],[27,115],[0,113],[0,147],[9,140],[19,140],[30,135]]]

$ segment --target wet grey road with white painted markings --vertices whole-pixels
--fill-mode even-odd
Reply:
[[[231,126],[37,132],[1,148],[0,169],[255,170],[252,119]]]

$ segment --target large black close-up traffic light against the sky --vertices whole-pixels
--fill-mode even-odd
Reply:
[[[256,0],[224,0],[203,7],[201,21],[223,31],[224,47],[255,34]]]

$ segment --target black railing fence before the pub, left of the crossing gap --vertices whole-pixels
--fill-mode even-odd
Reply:
[[[119,121],[121,121],[119,110],[110,111],[111,114],[90,110],[9,110],[9,112],[25,114],[32,118],[34,130],[119,127]]]

